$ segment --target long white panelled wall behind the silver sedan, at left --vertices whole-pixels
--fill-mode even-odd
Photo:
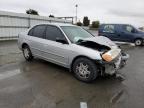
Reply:
[[[0,40],[15,39],[18,33],[33,25],[51,22],[72,23],[63,19],[0,11]]]

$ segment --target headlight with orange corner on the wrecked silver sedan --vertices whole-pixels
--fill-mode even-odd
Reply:
[[[120,54],[120,49],[112,49],[104,54],[102,54],[102,58],[107,61],[111,62],[113,59],[115,59]]]

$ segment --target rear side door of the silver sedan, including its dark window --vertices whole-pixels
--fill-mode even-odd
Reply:
[[[37,25],[33,27],[28,33],[28,44],[32,53],[36,56],[42,56],[43,42],[45,41],[46,25]]]

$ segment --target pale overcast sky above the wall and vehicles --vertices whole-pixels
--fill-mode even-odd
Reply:
[[[25,13],[32,8],[43,16],[75,16],[76,4],[81,21],[88,16],[102,23],[144,26],[144,0],[0,0],[0,10]]]

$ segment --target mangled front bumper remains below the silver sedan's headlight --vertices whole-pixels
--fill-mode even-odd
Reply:
[[[129,58],[129,55],[126,53],[121,53],[115,60],[112,62],[102,61],[101,64],[101,74],[110,74],[113,75],[118,72],[119,69],[123,68],[126,65],[126,62]]]

